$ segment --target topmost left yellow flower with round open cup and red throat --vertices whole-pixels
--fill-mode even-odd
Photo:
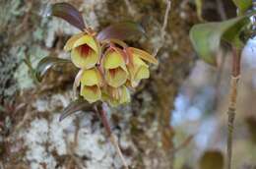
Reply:
[[[99,44],[94,36],[85,32],[72,36],[64,50],[71,50],[71,60],[78,68],[90,69],[99,61]]]

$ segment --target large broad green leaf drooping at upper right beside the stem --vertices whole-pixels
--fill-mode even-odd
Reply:
[[[248,24],[249,17],[255,13],[224,22],[199,24],[191,28],[189,36],[201,59],[216,66],[216,53],[220,49],[221,41],[225,40],[232,45],[239,45],[237,37],[241,29]]]

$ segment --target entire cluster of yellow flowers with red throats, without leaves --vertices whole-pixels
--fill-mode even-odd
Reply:
[[[90,103],[106,101],[116,106],[130,101],[128,87],[136,87],[150,77],[147,62],[157,64],[151,54],[127,46],[120,40],[98,41],[95,32],[72,36],[64,46],[81,69],[76,81],[80,95]]]

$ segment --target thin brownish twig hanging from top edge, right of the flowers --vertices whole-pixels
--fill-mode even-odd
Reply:
[[[165,14],[164,14],[163,24],[162,24],[162,27],[160,28],[161,43],[156,48],[156,50],[154,51],[153,56],[157,56],[157,54],[159,53],[160,48],[163,46],[163,41],[164,41],[164,37],[165,37],[165,34],[166,34],[165,29],[166,29],[167,24],[168,24],[168,15],[169,15],[170,7],[171,7],[171,1],[166,0],[166,3],[167,3],[167,6],[166,6]]]

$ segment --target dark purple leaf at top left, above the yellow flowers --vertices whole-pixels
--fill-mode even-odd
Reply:
[[[50,16],[59,17],[72,26],[80,28],[82,31],[86,28],[84,20],[80,12],[68,3],[53,4],[49,10]]]

